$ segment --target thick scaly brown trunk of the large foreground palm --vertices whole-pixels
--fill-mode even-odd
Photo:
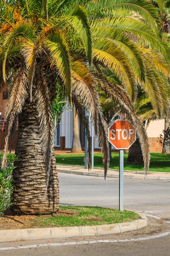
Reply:
[[[34,103],[26,102],[19,116],[15,153],[18,161],[13,172],[14,192],[11,209],[20,214],[48,214],[59,209],[59,182],[55,154],[45,198],[45,162],[40,145],[40,130]]]

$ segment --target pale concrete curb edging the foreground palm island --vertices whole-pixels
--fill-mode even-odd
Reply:
[[[120,224],[0,230],[0,242],[56,239],[76,236],[100,236],[139,230],[142,227],[146,227],[148,225],[148,222],[144,214],[139,212],[136,213],[140,216],[139,220]]]

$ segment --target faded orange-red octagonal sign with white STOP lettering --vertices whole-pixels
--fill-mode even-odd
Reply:
[[[136,141],[136,129],[129,120],[116,120],[108,128],[108,139],[116,149],[128,149]]]

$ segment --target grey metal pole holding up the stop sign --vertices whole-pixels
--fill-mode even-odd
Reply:
[[[124,150],[119,150],[119,211],[123,212],[123,153]]]

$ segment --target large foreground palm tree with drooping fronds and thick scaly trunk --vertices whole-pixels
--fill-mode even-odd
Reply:
[[[169,52],[160,22],[148,0],[1,1],[0,89],[9,87],[3,168],[8,137],[19,120],[13,210],[34,214],[58,210],[51,108],[57,83],[66,90],[89,141],[83,108],[91,111],[95,134],[101,140],[105,176],[109,164],[107,125],[96,86],[129,114],[139,134],[147,171],[148,138],[131,101],[140,86],[156,111],[167,109],[168,100],[162,95],[169,96]],[[107,79],[106,67],[121,85]],[[88,152],[90,167],[91,143]]]

